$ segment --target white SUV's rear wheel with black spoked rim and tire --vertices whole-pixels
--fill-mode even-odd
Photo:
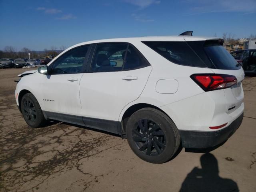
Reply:
[[[126,136],[132,151],[150,163],[170,160],[180,145],[174,122],[154,108],[143,108],[132,114],[126,124]]]

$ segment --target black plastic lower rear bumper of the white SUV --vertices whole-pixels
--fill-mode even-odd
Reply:
[[[211,148],[226,141],[240,126],[243,120],[244,113],[242,113],[229,126],[218,131],[192,131],[179,130],[182,147],[184,148]]]

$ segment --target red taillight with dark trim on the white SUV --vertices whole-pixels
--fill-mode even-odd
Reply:
[[[225,89],[237,83],[235,76],[225,74],[193,74],[190,78],[204,91]]]

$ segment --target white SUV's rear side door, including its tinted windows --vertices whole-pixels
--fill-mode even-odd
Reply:
[[[97,44],[94,50],[79,86],[84,123],[120,134],[120,112],[140,96],[152,67],[130,44]]]

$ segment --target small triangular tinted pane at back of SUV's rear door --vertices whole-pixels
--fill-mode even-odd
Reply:
[[[124,70],[132,70],[149,66],[145,58],[143,58],[133,46],[129,45],[126,53]]]

